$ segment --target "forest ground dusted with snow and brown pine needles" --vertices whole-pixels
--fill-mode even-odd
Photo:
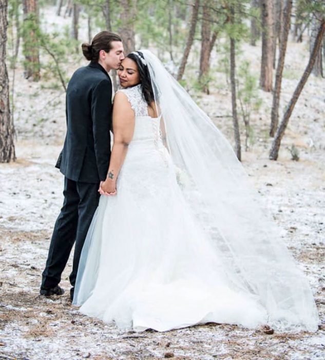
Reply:
[[[288,51],[282,108],[308,60],[305,43],[290,43]],[[246,45],[243,56],[257,74],[259,47]],[[70,64],[70,74],[77,66]],[[232,142],[230,92],[224,74],[215,75],[211,95],[194,96]],[[215,324],[164,333],[120,331],[79,314],[70,305],[71,258],[61,282],[65,295],[39,296],[51,231],[63,199],[63,176],[54,164],[65,134],[65,95],[45,85],[25,80],[22,69],[17,70],[17,160],[0,165],[0,359],[325,358],[324,80],[310,77],[278,161],[268,159],[271,94],[259,91],[262,106],[252,116],[254,143],[243,151],[244,168],[310,281],[321,321],[316,333],[273,335]],[[292,144],[299,151],[299,161],[291,160]]]

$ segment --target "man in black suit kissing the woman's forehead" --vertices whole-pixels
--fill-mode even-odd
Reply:
[[[118,69],[123,45],[119,35],[102,31],[91,45],[82,45],[88,66],[75,71],[66,94],[67,134],[56,167],[65,175],[64,202],[55,222],[40,294],[62,295],[61,274],[75,243],[70,274],[70,298],[81,250],[99,202],[99,185],[106,179],[110,157],[112,85],[108,71]]]

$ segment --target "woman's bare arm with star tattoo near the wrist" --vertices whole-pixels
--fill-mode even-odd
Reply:
[[[116,193],[116,180],[125,159],[127,147],[132,140],[134,130],[135,113],[126,95],[118,92],[114,97],[113,104],[113,147],[107,177],[100,186],[101,194],[112,195]]]

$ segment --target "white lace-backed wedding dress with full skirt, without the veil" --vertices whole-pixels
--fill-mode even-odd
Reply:
[[[160,117],[148,116],[140,85],[120,91],[135,112],[135,132],[117,195],[101,196],[89,228],[73,303],[136,331],[268,323],[263,299],[231,271],[200,208],[186,199],[186,178],[163,145]]]

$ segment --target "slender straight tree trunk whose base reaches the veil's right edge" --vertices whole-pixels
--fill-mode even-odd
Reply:
[[[234,24],[234,8],[231,7],[231,23]],[[233,127],[235,136],[235,152],[239,161],[241,161],[241,146],[240,133],[237,116],[237,102],[236,102],[236,54],[235,54],[235,40],[230,38],[230,81],[232,89],[232,109],[233,109]]]

